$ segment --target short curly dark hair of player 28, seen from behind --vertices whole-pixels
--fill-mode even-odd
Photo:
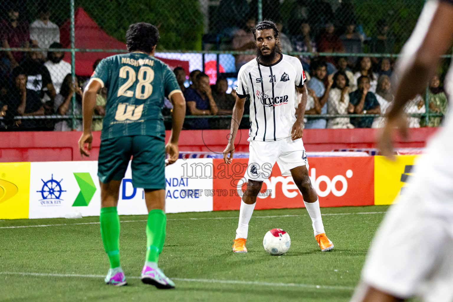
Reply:
[[[127,50],[150,53],[159,38],[159,29],[153,24],[145,22],[130,24],[126,32]]]

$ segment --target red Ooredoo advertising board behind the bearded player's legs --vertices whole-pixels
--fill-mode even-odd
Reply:
[[[241,178],[246,171],[248,159],[234,159],[226,165],[223,159],[214,159],[213,210],[239,210],[240,192],[237,187],[246,184]],[[309,158],[308,175],[318,194],[319,203],[327,206],[374,205],[374,159],[373,157],[327,157]],[[293,182],[293,177],[282,176],[277,164],[272,175],[263,182],[263,196],[259,196],[255,209],[280,209],[304,207],[302,194]]]

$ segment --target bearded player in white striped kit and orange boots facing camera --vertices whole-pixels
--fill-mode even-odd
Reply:
[[[241,201],[233,251],[247,252],[246,239],[256,197],[263,181],[270,177],[275,162],[279,164],[282,175],[292,175],[304,197],[315,238],[321,250],[328,251],[333,249],[333,243],[324,232],[318,196],[308,177],[308,160],[301,139],[308,95],[302,64],[298,58],[281,53],[279,31],[274,22],[261,21],[253,29],[253,34],[256,59],[246,63],[239,71],[230,138],[223,151],[225,163],[231,163],[234,139],[244,113],[246,97],[249,97],[250,158],[245,174],[248,181]],[[297,119],[295,89],[298,91]]]

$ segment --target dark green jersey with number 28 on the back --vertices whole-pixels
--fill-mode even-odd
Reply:
[[[181,91],[167,64],[145,53],[119,54],[103,59],[91,79],[108,89],[101,139],[129,135],[165,139],[164,97]]]

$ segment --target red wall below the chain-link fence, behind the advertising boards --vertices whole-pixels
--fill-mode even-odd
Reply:
[[[398,139],[395,147],[424,147],[426,140],[437,128],[412,128],[409,140]],[[332,151],[333,149],[374,148],[380,129],[304,129],[304,147],[307,151]],[[228,143],[230,130],[183,130],[179,136],[179,151],[222,152]],[[100,131],[93,132],[92,152],[82,158],[77,141],[78,131],[2,132],[0,162],[52,162],[72,160],[97,160]],[[169,139],[170,131],[166,131]],[[248,152],[248,129],[239,129],[236,135],[236,152]]]

